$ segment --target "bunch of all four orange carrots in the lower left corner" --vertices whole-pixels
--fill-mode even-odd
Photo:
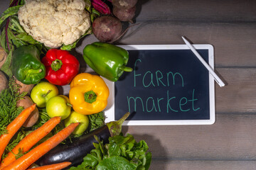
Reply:
[[[15,118],[7,127],[7,133],[0,136],[0,157],[4,153],[4,149],[10,142],[11,138],[16,134],[16,132],[21,128],[23,123],[26,121],[28,116],[33,112],[36,108],[36,104],[24,109],[18,116]],[[36,143],[45,137],[56,125],[60,123],[60,117],[51,118],[43,124],[37,130],[34,130],[29,135],[23,138],[21,142],[14,147],[14,149],[7,154],[7,157],[1,161],[0,170],[26,170],[31,164],[36,162],[43,154],[46,154],[50,149],[57,146],[60,142],[65,140],[78,126],[79,123],[70,124],[68,127],[60,130],[56,135],[50,137],[50,139],[41,143],[37,147],[31,149]],[[31,151],[29,151],[31,149]],[[29,151],[29,152],[28,152]],[[24,154],[22,157],[16,159],[15,155],[18,152],[28,152]],[[66,166],[69,166],[70,162],[62,162],[60,164],[52,164],[48,166],[41,166],[35,169],[63,169]]]

